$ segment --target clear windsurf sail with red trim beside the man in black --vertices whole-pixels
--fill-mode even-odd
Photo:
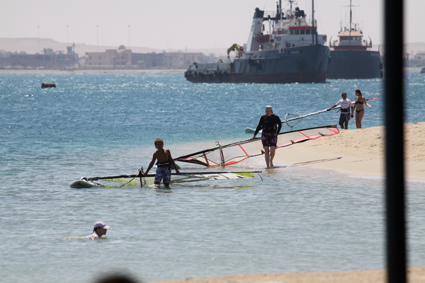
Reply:
[[[338,134],[336,125],[298,129],[290,132],[282,132],[278,135],[278,148],[297,144],[310,139],[332,136]],[[206,167],[229,166],[244,161],[246,158],[264,154],[261,138],[236,141],[231,144],[217,144],[216,147],[205,149],[179,156],[174,161],[198,164]]]

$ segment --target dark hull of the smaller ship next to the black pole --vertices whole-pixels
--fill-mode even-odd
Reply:
[[[378,51],[331,50],[327,79],[382,78]]]

